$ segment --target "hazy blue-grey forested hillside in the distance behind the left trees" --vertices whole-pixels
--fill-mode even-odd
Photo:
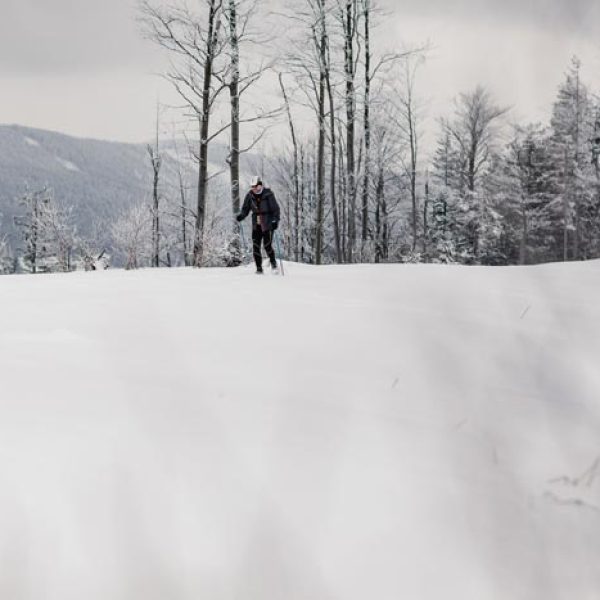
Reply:
[[[194,202],[193,161],[187,148],[180,146],[161,141],[158,190],[165,213],[177,215],[181,212],[182,192],[190,212]],[[213,145],[212,171],[224,163],[225,152],[222,146]],[[5,271],[11,270],[12,259],[27,253],[25,232],[15,219],[31,222],[27,212],[36,194],[40,199],[50,198],[54,212],[60,213],[62,235],[71,240],[69,250],[74,255],[82,251],[82,246],[94,252],[106,249],[120,264],[126,249],[119,246],[114,228],[123,229],[119,224],[131,221],[132,211],[140,213],[145,222],[143,215],[150,215],[152,193],[152,163],[144,144],[79,139],[18,125],[0,126],[0,242],[4,240],[3,254],[9,257]],[[24,202],[27,198],[29,205]],[[41,218],[38,221],[40,228],[48,226]],[[166,217],[163,229],[166,237]],[[55,231],[50,233],[56,237]],[[46,241],[54,252],[57,241]]]

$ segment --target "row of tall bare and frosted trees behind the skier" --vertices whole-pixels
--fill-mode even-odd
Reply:
[[[374,0],[290,1],[278,15],[285,44],[261,31],[264,14],[260,0],[140,3],[141,29],[170,56],[164,76],[195,130],[186,135],[195,181],[179,166],[164,193],[157,123],[152,200],[113,227],[126,267],[240,264],[244,154],[277,193],[290,260],[511,265],[600,256],[600,102],[576,58],[550,123],[511,124],[508,107],[474,86],[439,117],[426,152],[418,76],[427,48],[377,47],[385,15]],[[278,106],[257,101],[275,87]],[[283,124],[275,150],[258,159],[251,151],[273,121]],[[227,183],[209,168],[209,149],[224,137]],[[29,255],[35,235],[26,233]]]

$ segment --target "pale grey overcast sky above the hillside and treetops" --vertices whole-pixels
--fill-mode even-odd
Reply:
[[[157,97],[174,96],[156,75],[162,53],[139,34],[135,0],[0,2],[1,123],[120,141],[152,137]],[[477,83],[513,106],[516,120],[546,119],[573,54],[600,91],[597,0],[383,3],[390,16],[382,47],[432,44],[418,80],[431,120]]]

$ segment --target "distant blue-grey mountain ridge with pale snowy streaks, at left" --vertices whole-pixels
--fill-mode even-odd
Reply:
[[[177,142],[161,141],[163,168],[161,193],[173,194],[178,186]],[[153,172],[148,144],[80,138],[59,131],[18,124],[0,125],[0,235],[7,236],[14,253],[20,232],[14,219],[21,214],[19,198],[27,191],[50,188],[55,198],[73,207],[78,233],[108,236],[117,216],[139,202],[150,202]],[[213,144],[211,170],[224,164],[227,148]],[[189,188],[195,186],[195,169],[187,152],[180,164]],[[109,240],[104,244],[110,245]]]

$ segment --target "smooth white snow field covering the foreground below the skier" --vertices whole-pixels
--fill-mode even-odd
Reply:
[[[600,262],[0,278],[0,597],[597,600]]]

